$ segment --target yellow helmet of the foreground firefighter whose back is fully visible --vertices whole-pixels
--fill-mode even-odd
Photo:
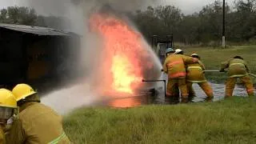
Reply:
[[[34,91],[34,89],[27,85],[27,84],[18,84],[17,86],[14,87],[12,90],[14,97],[16,98],[16,101],[18,102],[21,99],[24,99],[32,94],[36,94],[37,92]]]

